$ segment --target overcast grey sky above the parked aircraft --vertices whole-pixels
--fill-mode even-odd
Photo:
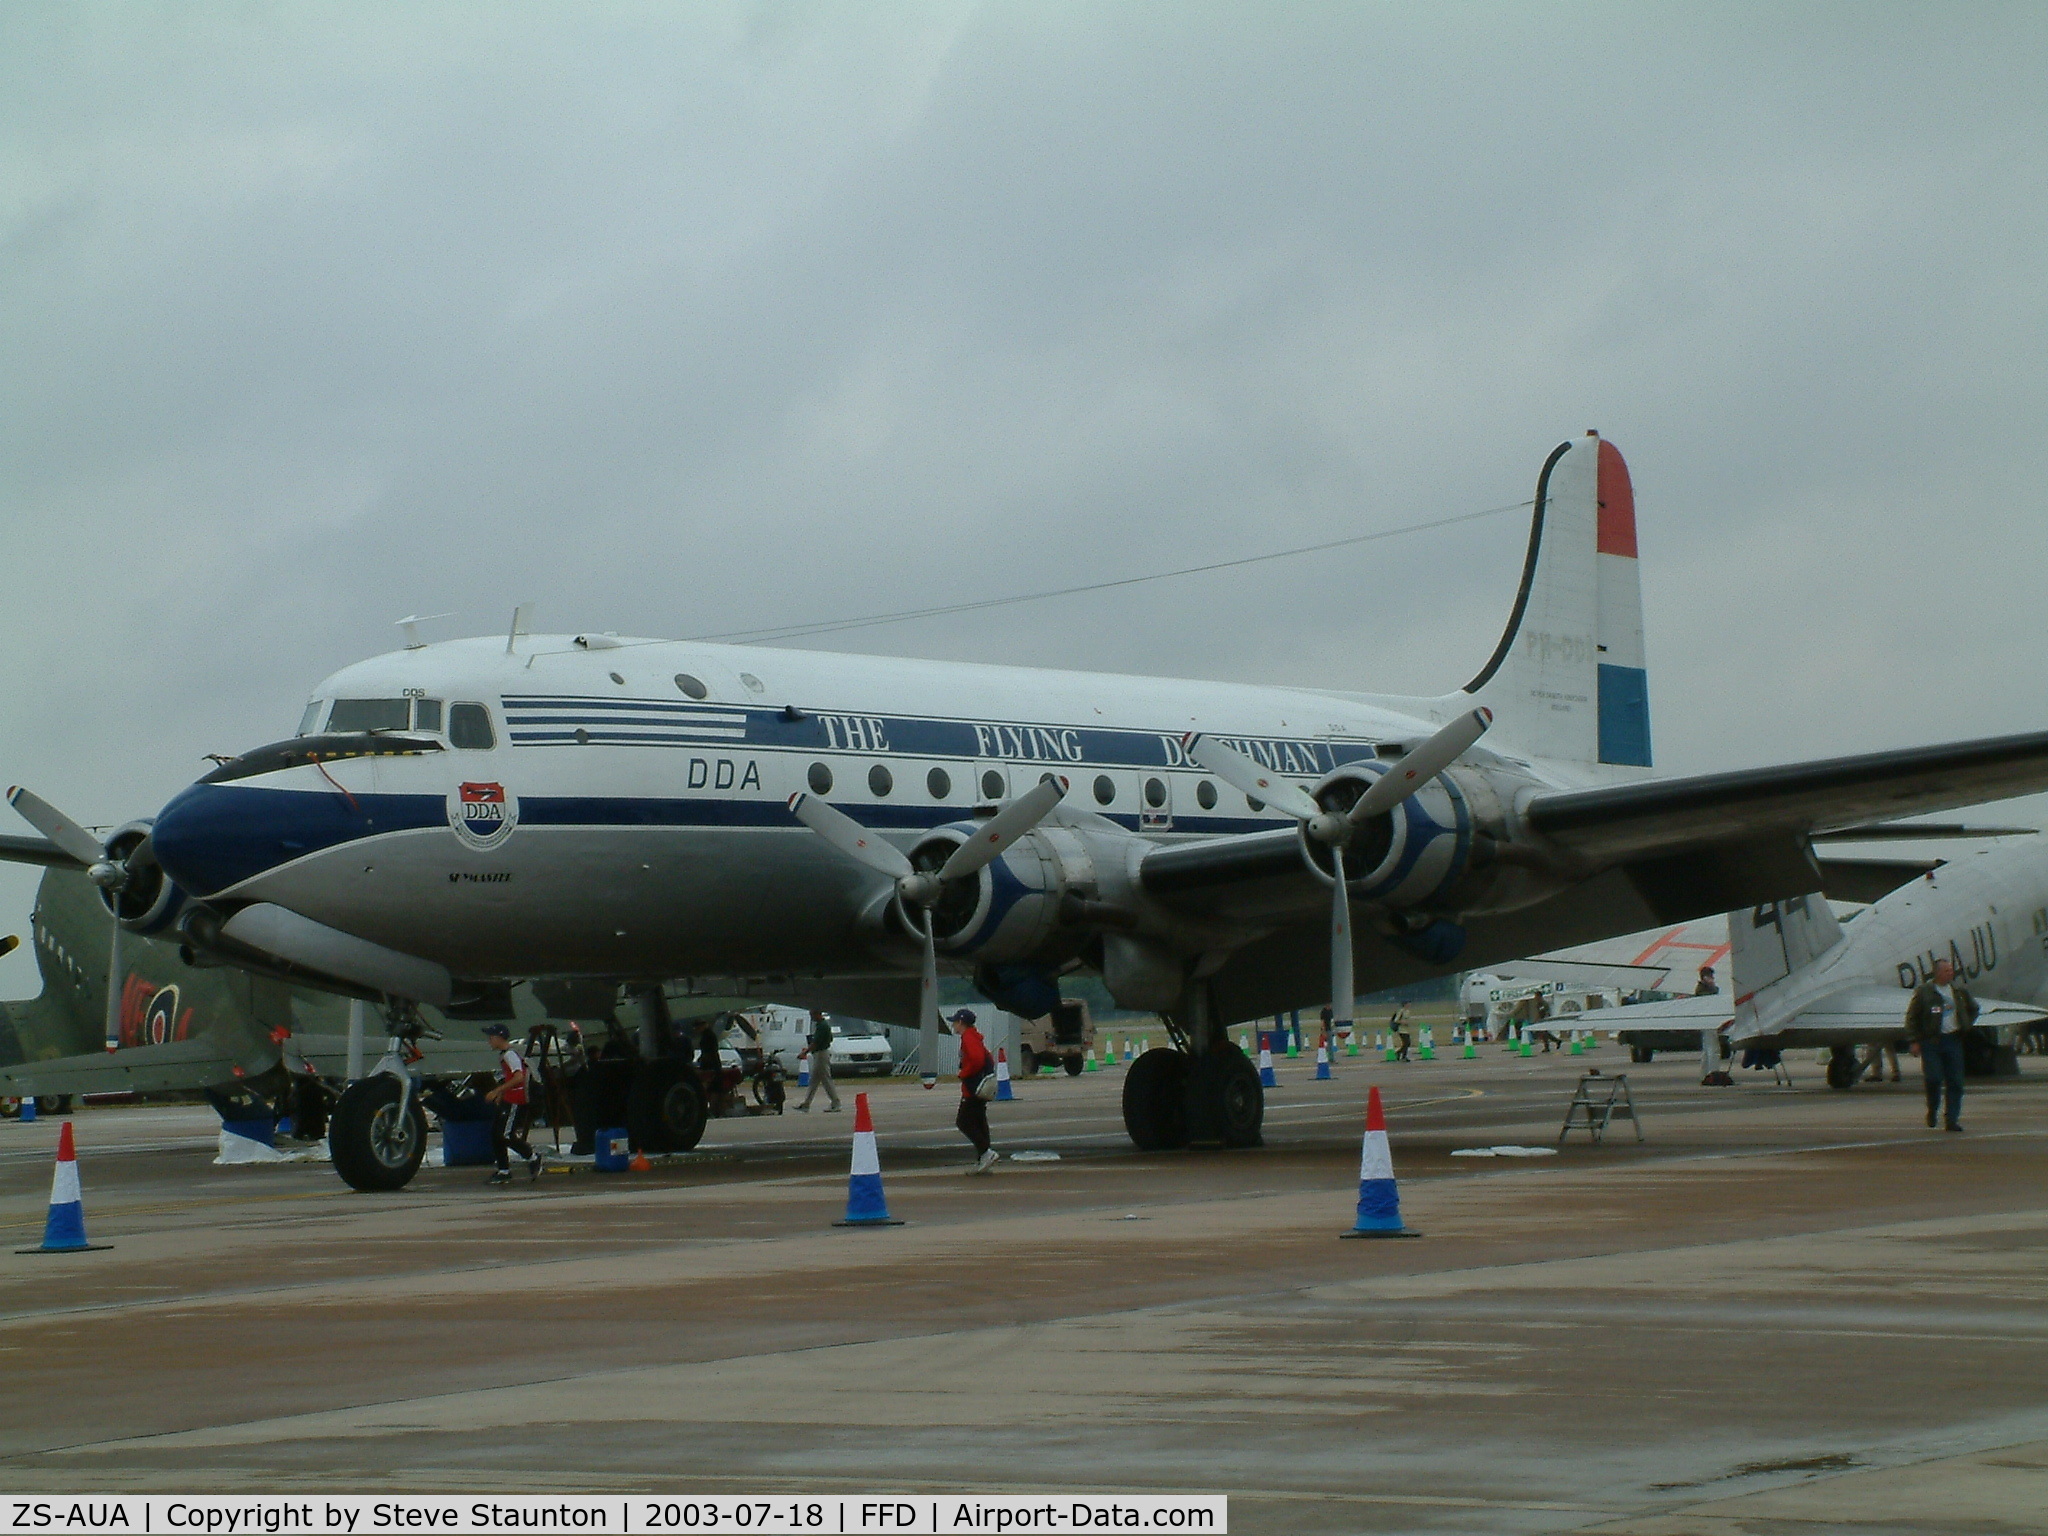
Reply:
[[[2032,4],[16,0],[0,778],[150,813],[408,612],[1001,596],[1589,426],[1661,768],[2044,727],[2044,78]],[[1522,539],[815,643],[1442,692]]]

